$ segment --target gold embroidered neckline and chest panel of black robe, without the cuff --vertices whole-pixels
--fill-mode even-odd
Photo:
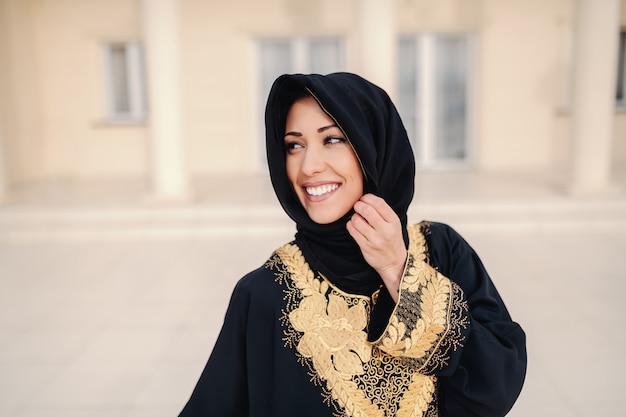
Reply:
[[[416,260],[424,259],[418,225],[409,226],[409,236],[409,252]],[[295,244],[279,248],[268,267],[285,286],[281,318],[285,346],[295,348],[299,362],[309,368],[312,382],[322,386],[325,401],[337,415],[435,413],[436,378],[367,341],[370,297],[348,294],[313,272]]]

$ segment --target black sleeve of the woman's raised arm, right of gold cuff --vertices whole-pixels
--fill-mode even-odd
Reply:
[[[452,228],[426,224],[429,262],[465,292],[471,330],[451,366],[441,369],[441,416],[504,416],[526,375],[526,337],[511,320],[481,260]],[[454,356],[453,355],[453,356]]]

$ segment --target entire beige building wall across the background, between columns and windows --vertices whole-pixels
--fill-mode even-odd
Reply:
[[[626,25],[626,0],[622,0]],[[356,64],[355,0],[180,0],[182,105],[192,176],[255,172],[254,41],[344,35]],[[476,35],[476,167],[566,169],[572,0],[396,1],[399,33]],[[146,177],[143,125],[105,118],[102,42],[141,36],[139,0],[0,0],[0,128],[11,183]],[[375,28],[373,28],[375,30]],[[615,161],[626,163],[616,117]]]

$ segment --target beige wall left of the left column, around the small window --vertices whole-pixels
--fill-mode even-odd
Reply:
[[[100,45],[139,39],[127,0],[4,0],[10,26],[2,80],[9,179],[143,176],[143,126],[107,124]],[[4,25],[0,25],[4,27]]]

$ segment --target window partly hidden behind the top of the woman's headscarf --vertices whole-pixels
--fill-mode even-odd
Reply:
[[[257,43],[259,62],[258,112],[263,126],[265,102],[274,80],[282,74],[328,74],[345,69],[344,42],[338,37],[271,38]],[[263,129],[258,129],[262,132]],[[265,166],[265,138],[260,140],[260,166]]]

